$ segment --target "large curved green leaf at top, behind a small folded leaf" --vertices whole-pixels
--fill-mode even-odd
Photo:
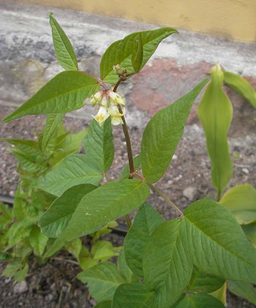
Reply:
[[[159,43],[167,36],[173,33],[178,33],[173,28],[160,28],[156,30],[135,32],[127,35],[123,40],[114,42],[106,49],[100,62],[100,78],[104,82],[115,84],[119,77],[113,71],[113,65],[120,64],[127,70],[127,73],[131,73],[133,69],[132,54],[134,49],[134,42],[136,42],[138,35],[140,35],[142,48],[143,48],[143,60],[140,69],[146,64],[148,59],[157,49]]]

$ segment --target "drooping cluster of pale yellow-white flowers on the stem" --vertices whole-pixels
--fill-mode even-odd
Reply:
[[[109,117],[111,117],[112,125],[123,124],[122,116],[125,114],[125,101],[121,95],[112,90],[100,90],[93,95],[90,104],[99,106],[99,111],[93,118],[100,126],[102,126]],[[123,109],[121,109],[120,106],[123,106]],[[120,109],[122,112],[120,112]]]

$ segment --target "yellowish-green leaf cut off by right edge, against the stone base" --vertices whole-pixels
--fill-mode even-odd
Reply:
[[[224,73],[224,82],[233,90],[238,92],[242,97],[244,97],[248,102],[256,108],[256,91],[250,85],[250,83],[244,79],[242,76],[227,71]]]

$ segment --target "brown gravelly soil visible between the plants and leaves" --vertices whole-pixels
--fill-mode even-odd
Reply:
[[[12,107],[1,107],[1,118],[9,114]],[[7,124],[0,124],[0,135],[3,138],[34,138],[33,129],[40,130],[45,117],[42,115],[17,119]],[[74,128],[74,132],[87,127],[88,121],[83,119],[65,118],[67,128]],[[142,127],[133,125],[130,128],[134,155],[140,152],[140,140]],[[236,131],[232,128],[231,131]],[[238,183],[250,183],[255,185],[256,174],[256,136],[251,130],[238,136],[231,133],[229,144],[231,153],[236,151],[233,158],[234,172],[228,188]],[[114,127],[116,154],[111,170],[108,172],[111,180],[118,179],[123,166],[127,163],[125,140],[121,126]],[[18,175],[15,171],[16,161],[8,151],[8,145],[0,145],[0,194],[13,195]],[[185,127],[184,136],[176,150],[172,164],[166,170],[164,177],[156,184],[173,202],[181,209],[186,208],[191,202],[202,199],[206,195],[215,196],[215,191],[210,183],[210,162],[205,149],[203,130],[198,124]],[[193,196],[187,197],[184,189],[193,187]],[[190,199],[190,200],[189,200]],[[165,219],[176,217],[176,213],[161,197],[151,192],[148,202],[154,205]],[[134,217],[135,212],[131,214]],[[124,220],[120,218],[120,223]],[[122,245],[123,238],[117,235],[108,235],[116,246]],[[60,258],[71,258],[61,253]],[[0,263],[0,273],[4,264]],[[90,298],[86,286],[75,277],[79,268],[75,264],[66,261],[50,262],[38,265],[35,259],[30,260],[29,275],[26,278],[28,291],[22,294],[14,293],[12,279],[0,278],[1,301],[0,308],[9,307],[92,307],[95,302]],[[228,294],[227,306],[230,308],[252,308],[253,304],[244,299]]]

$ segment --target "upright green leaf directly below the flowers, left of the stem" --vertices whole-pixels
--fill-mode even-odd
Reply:
[[[102,126],[96,120],[92,120],[88,134],[84,138],[84,151],[90,163],[101,174],[106,172],[112,165],[115,154],[113,139],[110,117]]]

